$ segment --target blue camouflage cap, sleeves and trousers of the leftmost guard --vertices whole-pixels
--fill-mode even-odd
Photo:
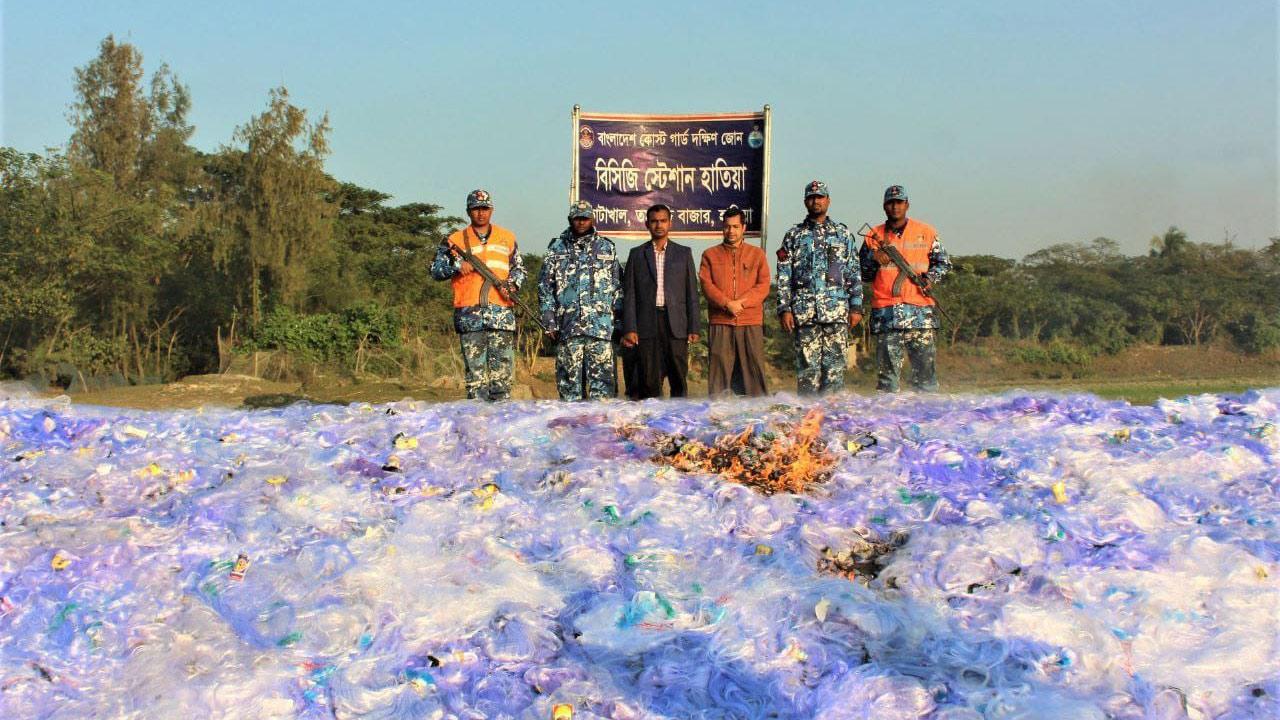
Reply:
[[[479,192],[479,191],[477,191]],[[479,206],[472,192],[467,196],[468,210]],[[488,199],[484,200],[488,202]],[[489,236],[493,236],[490,231]],[[483,238],[481,242],[488,242]],[[442,245],[431,263],[431,277],[438,281],[452,279],[462,273],[462,258],[448,251]],[[525,283],[525,260],[512,243],[511,269],[507,282],[516,291]],[[511,397],[511,386],[516,375],[516,309],[503,305],[490,305],[488,293],[483,292],[477,305],[453,309],[453,329],[458,333],[462,346],[463,382],[468,400],[498,401]]]

